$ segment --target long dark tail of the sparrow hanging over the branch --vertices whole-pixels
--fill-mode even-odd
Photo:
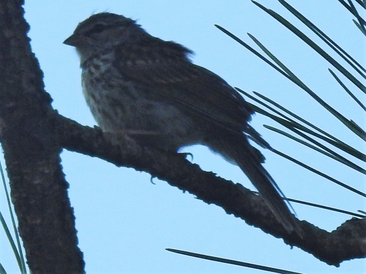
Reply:
[[[284,202],[285,196],[283,192],[268,171],[262,166],[265,160],[262,153],[249,144],[244,134],[229,134],[229,138],[221,140],[216,141],[216,145],[212,149],[219,152],[226,159],[234,161],[247,175],[255,188],[258,189],[258,192],[284,228],[289,233],[295,231],[302,237],[303,233],[297,220]]]

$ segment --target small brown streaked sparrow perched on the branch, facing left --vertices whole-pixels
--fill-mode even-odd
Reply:
[[[249,144],[248,137],[269,148],[248,125],[253,109],[222,78],[193,64],[192,51],[108,12],[79,23],[64,44],[79,54],[83,94],[102,130],[151,132],[134,138],[166,152],[206,145],[243,170],[288,232],[299,231],[264,156]]]

